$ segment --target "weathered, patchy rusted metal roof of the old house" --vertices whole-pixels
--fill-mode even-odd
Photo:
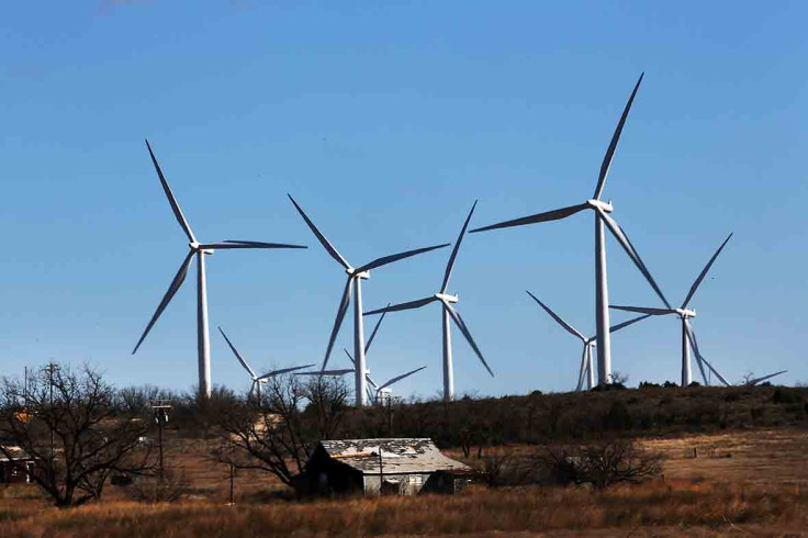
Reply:
[[[447,458],[431,439],[343,439],[319,442],[326,453],[335,460],[364,474],[419,473],[470,468]]]

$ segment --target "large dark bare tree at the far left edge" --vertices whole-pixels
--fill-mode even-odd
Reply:
[[[147,471],[149,428],[144,410],[88,366],[48,365],[24,383],[0,383],[0,452],[33,458],[23,471],[60,508],[99,498],[113,471]]]

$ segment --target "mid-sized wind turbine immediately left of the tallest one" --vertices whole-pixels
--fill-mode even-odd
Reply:
[[[413,309],[420,309],[422,306],[426,306],[429,303],[434,302],[440,302],[441,304],[441,327],[444,330],[444,401],[450,402],[454,400],[454,369],[452,366],[452,354],[451,354],[451,323],[450,320],[453,321],[458,328],[460,329],[460,333],[465,337],[471,348],[474,350],[474,354],[480,358],[485,369],[489,371],[491,377],[494,377],[494,372],[491,371],[491,368],[489,367],[489,363],[485,362],[485,359],[483,358],[483,354],[480,351],[480,348],[478,347],[476,343],[474,341],[474,338],[471,336],[471,333],[469,332],[469,327],[465,326],[465,323],[463,322],[462,317],[460,317],[460,314],[458,311],[452,307],[452,304],[456,304],[458,302],[457,295],[449,295],[446,293],[447,289],[449,288],[449,278],[451,277],[451,270],[454,267],[454,260],[458,256],[458,250],[460,249],[460,244],[463,240],[463,236],[465,235],[465,229],[469,227],[469,222],[471,221],[471,215],[474,213],[474,208],[476,208],[476,201],[471,206],[471,211],[469,211],[469,216],[465,217],[465,222],[463,223],[463,227],[460,229],[460,235],[458,236],[458,240],[454,242],[454,248],[451,251],[451,256],[449,256],[449,261],[446,265],[446,271],[444,272],[444,282],[440,284],[440,291],[438,293],[425,298],[425,299],[418,299],[416,301],[409,301],[406,303],[400,303],[395,304],[393,306],[385,306],[384,309],[374,310],[371,312],[367,312],[364,315],[373,315],[373,314],[380,314],[380,313],[388,313],[388,312],[397,312],[402,310],[413,310]]]

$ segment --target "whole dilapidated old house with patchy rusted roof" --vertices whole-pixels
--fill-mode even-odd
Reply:
[[[321,441],[294,485],[301,495],[416,495],[456,493],[473,480],[431,439],[346,439]]]

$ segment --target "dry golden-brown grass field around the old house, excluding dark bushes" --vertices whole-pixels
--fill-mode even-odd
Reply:
[[[457,496],[274,500],[277,482],[204,459],[200,441],[175,440],[169,458],[193,484],[182,501],[147,504],[110,487],[101,503],[47,507],[31,487],[0,490],[0,536],[801,536],[808,535],[808,433],[773,430],[652,439],[664,475],[597,492],[575,487],[475,487]],[[694,452],[695,449],[695,452]],[[694,457],[695,456],[695,457]]]

